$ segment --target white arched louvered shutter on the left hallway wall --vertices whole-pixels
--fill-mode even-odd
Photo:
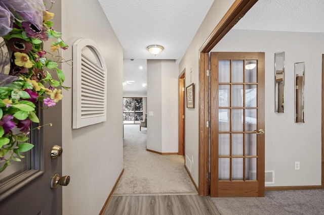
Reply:
[[[107,69],[91,39],[73,44],[73,124],[81,128],[106,121]]]

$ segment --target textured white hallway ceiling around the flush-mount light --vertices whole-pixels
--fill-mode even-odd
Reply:
[[[214,0],[98,0],[124,48],[124,59],[183,57]],[[157,56],[146,50],[164,46]]]

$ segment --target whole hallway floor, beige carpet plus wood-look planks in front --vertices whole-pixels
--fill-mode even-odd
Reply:
[[[124,126],[124,173],[104,214],[218,214],[198,196],[183,156],[146,151],[146,128]]]

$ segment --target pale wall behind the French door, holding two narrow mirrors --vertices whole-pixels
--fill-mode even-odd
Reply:
[[[231,30],[213,51],[265,52],[265,170],[275,184],[321,185],[324,33]],[[238,39],[239,38],[239,39]],[[274,113],[274,53],[285,51],[285,113]],[[294,121],[294,63],[305,62],[305,123]],[[300,170],[294,170],[294,162]]]

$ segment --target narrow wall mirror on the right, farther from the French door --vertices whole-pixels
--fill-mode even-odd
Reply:
[[[295,123],[305,122],[305,62],[295,63]]]

